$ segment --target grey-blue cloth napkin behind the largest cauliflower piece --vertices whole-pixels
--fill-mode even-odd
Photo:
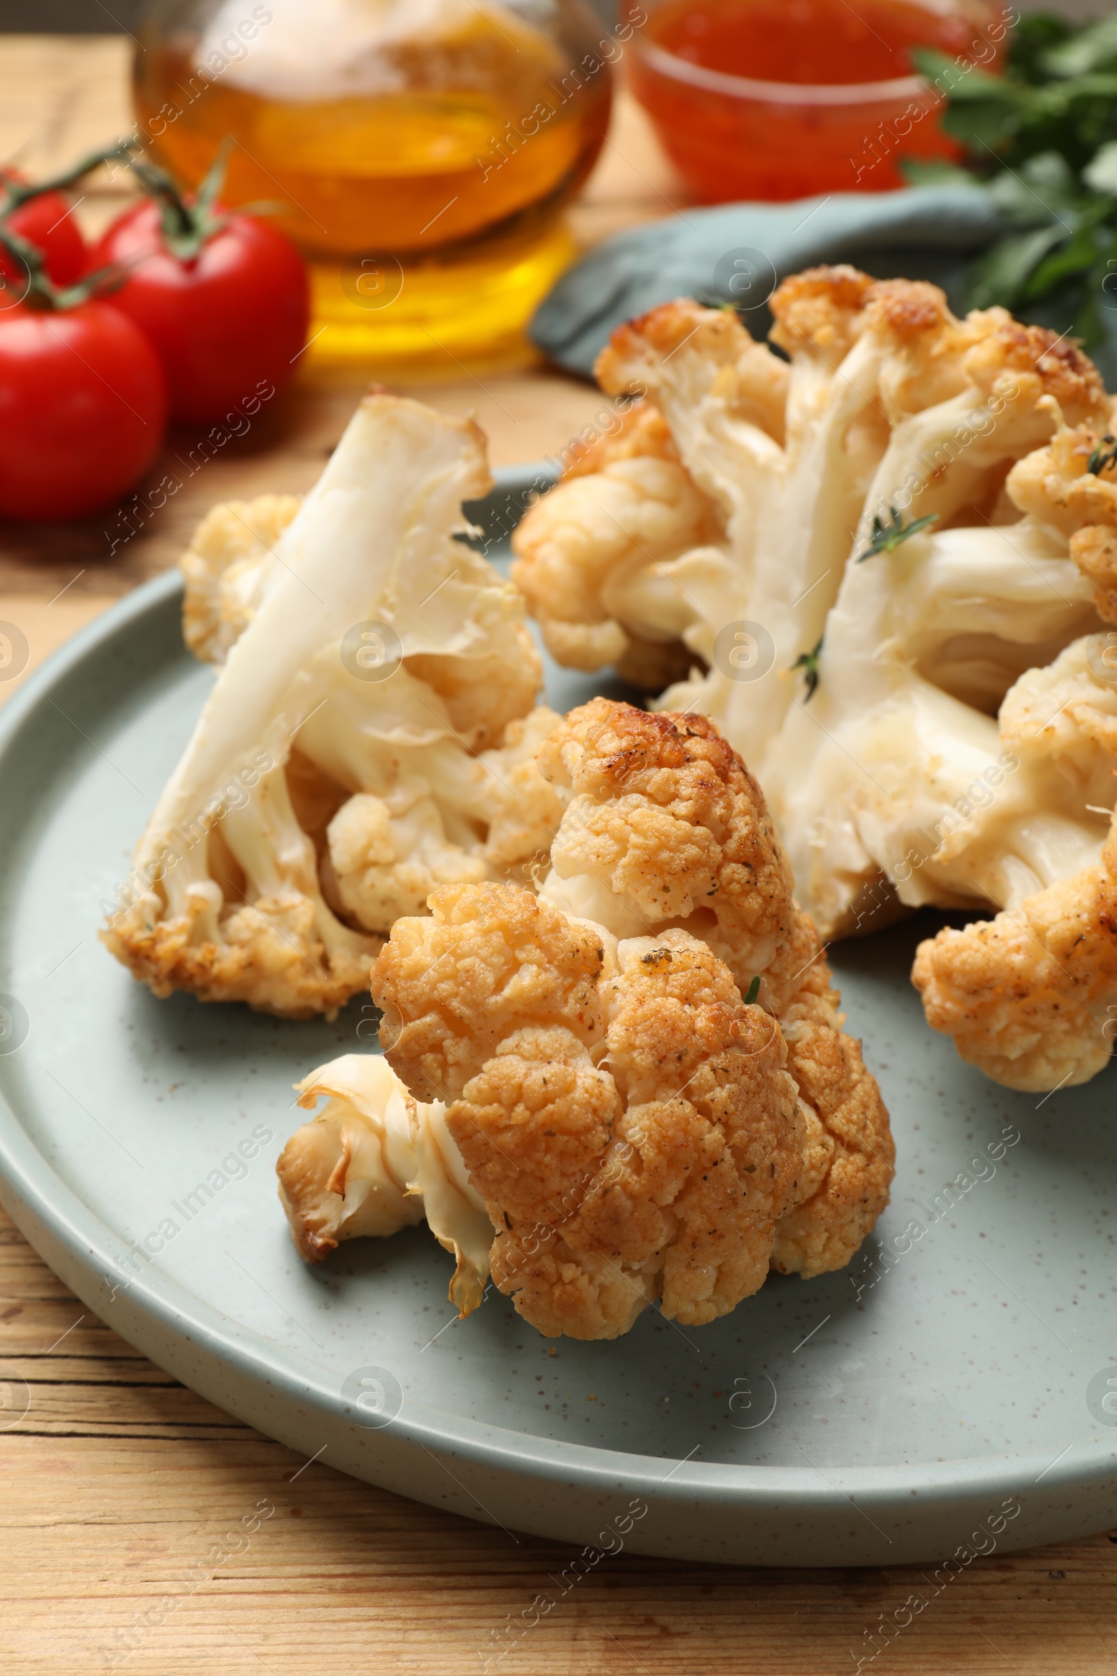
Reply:
[[[672,297],[734,302],[752,335],[765,337],[774,287],[821,261],[852,261],[878,280],[934,280],[953,308],[965,308],[970,258],[1000,231],[996,210],[978,186],[687,210],[589,251],[541,303],[531,335],[583,377],[593,375],[613,327]]]

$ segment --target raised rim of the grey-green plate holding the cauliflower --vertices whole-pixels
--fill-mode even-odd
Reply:
[[[522,496],[539,488],[541,478],[551,481],[553,471],[526,466],[494,476],[497,486],[489,503],[519,499],[522,504]],[[20,734],[35,722],[50,694],[114,639],[127,640],[149,613],[181,595],[181,587],[178,572],[141,585],[82,628],[12,696],[0,711],[0,796]],[[976,1518],[980,1508],[998,1498],[1015,1498],[1027,1515],[1008,1534],[1003,1549],[1087,1535],[1117,1520],[1117,1440],[1112,1446],[1080,1440],[1073,1460],[995,1453],[965,1461],[827,1466],[822,1473],[814,1466],[672,1463],[538,1438],[444,1415],[412,1399],[390,1426],[370,1430],[353,1420],[353,1406],[318,1364],[258,1336],[157,1270],[149,1269],[126,1291],[107,1297],[106,1277],[116,1272],[111,1229],[60,1180],[3,1094],[0,1202],[84,1304],[199,1394],[291,1448],[301,1450],[323,1436],[327,1446],[333,1445],[332,1465],[469,1517],[586,1540],[584,1532],[620,1490],[643,1498],[653,1515],[633,1535],[631,1547],[640,1552],[750,1564],[767,1559],[784,1565],[928,1559],[941,1550],[938,1530],[953,1532],[956,1539],[970,1517]],[[445,1456],[482,1470],[486,1493],[497,1502],[504,1518],[452,1473],[459,1488],[447,1493],[444,1478],[432,1477],[429,1468],[434,1463],[447,1473]],[[529,1487],[543,1490],[544,1498],[534,1493],[524,1498]],[[708,1522],[715,1510],[735,1512],[730,1523],[742,1530],[767,1518],[760,1532],[764,1552],[747,1539],[742,1550],[730,1527],[720,1537],[700,1535],[697,1522]],[[871,1530],[851,1522],[851,1510]],[[896,1537],[886,1535],[879,1520]],[[802,1537],[806,1527],[814,1540],[806,1537],[800,1554],[787,1554],[787,1535],[799,1532]]]

